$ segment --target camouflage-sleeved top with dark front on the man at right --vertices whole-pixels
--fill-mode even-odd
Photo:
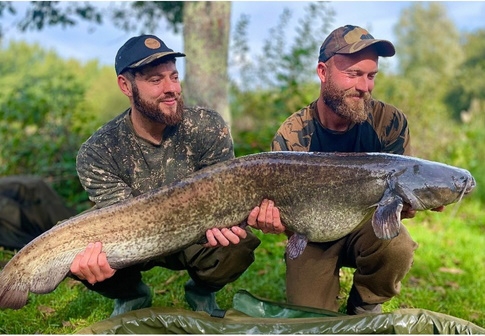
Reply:
[[[288,117],[276,132],[274,151],[386,152],[411,155],[406,116],[392,105],[373,100],[365,122],[346,132],[324,128],[317,119],[317,102]]]

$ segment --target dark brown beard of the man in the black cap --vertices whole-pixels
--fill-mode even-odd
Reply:
[[[140,96],[140,91],[135,83],[132,83],[133,88],[133,105],[135,106],[136,110],[140,112],[145,118],[159,123],[164,124],[167,126],[175,126],[178,125],[182,121],[182,115],[184,110],[184,101],[182,96],[179,96],[177,99],[177,107],[174,112],[167,113],[160,109],[159,104],[161,100],[158,99],[156,102],[152,103],[149,101],[144,100]],[[175,96],[172,94],[172,96]],[[172,97],[168,96],[167,97]]]

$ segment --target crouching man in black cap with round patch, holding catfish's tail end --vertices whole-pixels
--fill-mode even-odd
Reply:
[[[206,166],[234,157],[228,126],[215,111],[183,105],[174,52],[153,35],[129,39],[118,51],[118,86],[130,108],[96,131],[77,156],[79,179],[105,207],[146,193]],[[254,211],[250,216],[255,216]],[[214,223],[216,225],[217,223]],[[217,314],[215,292],[236,280],[254,261],[259,239],[240,227],[211,229],[208,243],[115,271],[102,242],[89,244],[71,265],[86,286],[115,299],[111,316],[151,305],[141,271],[154,266],[186,269],[185,297],[194,310]]]

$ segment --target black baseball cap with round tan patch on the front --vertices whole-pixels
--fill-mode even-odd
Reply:
[[[127,68],[138,68],[165,56],[185,57],[176,52],[155,35],[140,35],[130,38],[118,50],[115,58],[115,70],[119,75]]]

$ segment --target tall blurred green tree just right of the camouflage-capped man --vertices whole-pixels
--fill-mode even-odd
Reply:
[[[403,10],[394,29],[403,102],[413,124],[447,133],[450,112],[444,98],[464,59],[460,35],[439,2],[415,2]],[[428,113],[423,113],[428,110]],[[424,140],[431,135],[421,134]],[[427,153],[426,153],[427,154]]]

